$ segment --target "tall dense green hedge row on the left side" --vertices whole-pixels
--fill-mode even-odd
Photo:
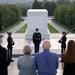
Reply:
[[[17,5],[0,5],[0,31],[20,20],[21,15],[20,7]]]

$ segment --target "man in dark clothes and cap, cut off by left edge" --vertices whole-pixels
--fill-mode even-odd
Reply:
[[[7,58],[7,50],[1,46],[3,35],[0,35],[0,75],[8,75],[8,66],[10,64]]]

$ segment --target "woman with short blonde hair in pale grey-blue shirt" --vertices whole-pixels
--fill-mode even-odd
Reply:
[[[36,75],[34,57],[31,56],[31,51],[32,49],[29,45],[24,46],[24,56],[20,56],[17,62],[19,75]]]

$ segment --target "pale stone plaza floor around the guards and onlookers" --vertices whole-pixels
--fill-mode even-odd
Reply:
[[[2,45],[7,48],[7,34],[4,33],[3,34],[3,43]],[[60,54],[61,54],[61,50],[60,50],[60,43],[58,43],[58,40],[61,38],[61,34],[60,33],[51,33],[50,34],[50,42],[51,42],[51,52],[55,52],[59,55],[59,68],[57,70],[57,75],[62,75],[62,68],[61,68],[61,63],[60,63]],[[17,69],[17,60],[18,57],[23,55],[23,47],[26,44],[30,44],[32,47],[32,55],[34,55],[34,45],[33,42],[31,41],[30,43],[28,43],[27,40],[25,40],[25,34],[24,33],[13,33],[12,34],[13,40],[15,41],[15,45],[13,46],[13,59],[14,62],[11,62],[10,66],[8,67],[8,75],[18,75],[18,69]],[[67,35],[67,42],[72,39],[75,40],[75,34],[68,34]],[[66,43],[67,43],[66,42]],[[40,44],[40,51],[43,51],[42,49],[42,43]]]

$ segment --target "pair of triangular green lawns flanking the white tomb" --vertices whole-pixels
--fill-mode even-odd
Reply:
[[[17,31],[17,33],[25,33],[26,29],[27,29],[27,24],[24,25],[21,29],[19,29],[19,30]],[[58,32],[54,27],[52,27],[50,24],[48,24],[48,29],[49,29],[50,33],[59,33],[59,32]]]

